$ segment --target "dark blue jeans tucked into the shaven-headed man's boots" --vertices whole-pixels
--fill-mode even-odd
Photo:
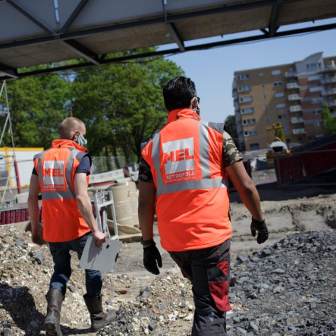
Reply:
[[[82,256],[87,237],[92,235],[91,232],[86,235],[74,239],[71,241],[64,241],[62,243],[49,243],[50,253],[52,260],[54,260],[54,274],[52,274],[50,280],[50,289],[57,289],[66,293],[66,283],[71,276],[71,255],[70,250],[75,251],[78,254],[78,258]],[[85,285],[86,296],[96,297],[99,296],[102,291],[103,277],[102,272],[94,271],[92,269],[85,269]]]

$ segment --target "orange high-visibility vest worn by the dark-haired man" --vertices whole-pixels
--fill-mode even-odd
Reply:
[[[193,110],[174,110],[141,152],[151,166],[158,229],[167,251],[207,248],[231,237],[223,129],[224,124],[204,122]]]

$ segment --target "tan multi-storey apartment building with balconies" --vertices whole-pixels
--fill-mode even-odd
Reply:
[[[266,127],[277,122],[283,125],[288,144],[323,137],[322,104],[336,111],[336,56],[322,54],[235,72],[232,97],[242,151],[267,148]]]

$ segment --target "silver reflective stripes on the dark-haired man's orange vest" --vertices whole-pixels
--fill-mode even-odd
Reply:
[[[157,189],[156,196],[169,193],[178,193],[182,190],[197,190],[211,188],[228,188],[228,180],[210,179],[210,163],[209,163],[209,129],[208,123],[200,121],[200,162],[201,162],[201,180],[181,181],[177,183],[163,183],[160,169],[160,132],[153,136],[152,157],[155,172],[158,174],[156,179]]]

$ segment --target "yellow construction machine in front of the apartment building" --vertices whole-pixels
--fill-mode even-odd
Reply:
[[[281,133],[280,137],[276,137],[276,131],[279,130]],[[274,131],[274,138],[272,142],[269,141],[269,132]],[[278,158],[279,156],[288,156],[290,155],[290,149],[286,144],[285,136],[283,133],[283,127],[281,125],[272,127],[266,127],[266,137],[267,137],[267,166],[269,169],[274,168],[274,158]]]

